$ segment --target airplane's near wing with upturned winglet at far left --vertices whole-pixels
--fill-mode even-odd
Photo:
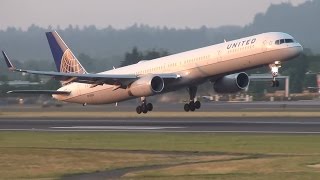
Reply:
[[[77,73],[63,73],[63,72],[53,72],[53,71],[32,71],[32,70],[23,70],[16,69],[6,53],[2,51],[5,62],[11,71],[21,72],[21,73],[29,73],[43,76],[51,76],[56,80],[67,81],[70,82],[79,82],[79,83],[87,83],[94,85],[102,85],[102,84],[110,84],[110,85],[128,85],[133,81],[140,78],[135,74],[77,74]],[[177,79],[180,77],[178,74],[155,74],[163,79]]]

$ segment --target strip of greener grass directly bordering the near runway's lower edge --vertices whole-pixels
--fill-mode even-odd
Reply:
[[[320,153],[320,135],[0,132],[0,147]]]

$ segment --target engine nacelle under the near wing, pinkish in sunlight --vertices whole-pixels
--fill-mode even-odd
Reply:
[[[130,96],[143,97],[160,93],[164,88],[164,81],[159,76],[146,75],[133,82],[127,90]]]

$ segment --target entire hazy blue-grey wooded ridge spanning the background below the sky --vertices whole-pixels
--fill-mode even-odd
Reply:
[[[267,31],[283,31],[296,37],[304,47],[320,53],[320,1],[308,1],[300,6],[271,5],[265,14],[257,14],[254,21],[244,27],[226,26],[199,29],[155,28],[133,25],[117,30],[112,27],[83,29],[69,26],[59,30],[76,55],[85,53],[93,58],[119,59],[134,46],[141,50],[164,49],[171,53],[223,42],[244,35]],[[27,31],[8,28],[0,31],[0,48],[19,60],[52,59],[44,33],[52,28],[30,26]],[[118,60],[119,61],[119,60]]]

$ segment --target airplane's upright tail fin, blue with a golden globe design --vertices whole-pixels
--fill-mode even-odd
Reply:
[[[46,33],[57,70],[64,73],[87,73],[56,31]]]

